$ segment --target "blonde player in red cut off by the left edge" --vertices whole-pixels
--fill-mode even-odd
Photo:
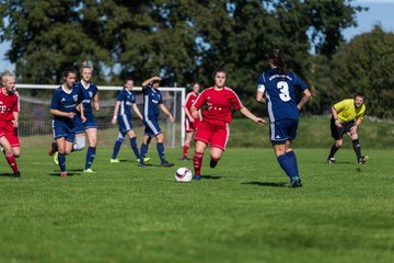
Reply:
[[[21,155],[18,138],[19,96],[15,93],[15,75],[4,71],[1,75],[2,88],[0,89],[0,145],[4,149],[5,159],[10,164],[13,175],[21,176],[15,156]],[[15,155],[14,155],[14,151]]]

